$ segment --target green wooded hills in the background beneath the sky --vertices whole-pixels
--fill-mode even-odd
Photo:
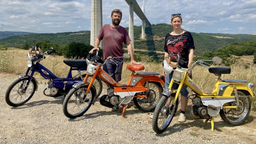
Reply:
[[[134,26],[134,48],[144,50],[136,51],[136,53],[149,56],[163,55],[156,53],[156,51],[164,51],[164,37],[171,31],[172,26],[169,24],[153,24],[152,27],[146,27],[146,39],[141,39],[141,26]],[[256,39],[256,35],[250,34],[191,34],[195,42],[196,49],[194,54],[196,56],[200,56],[209,51],[215,51],[232,42],[244,42]],[[56,43],[58,45],[66,45],[70,42],[90,44],[90,33],[88,31],[81,31],[79,34],[77,32],[66,32],[57,34],[18,35],[0,39],[0,45],[19,48],[26,43],[32,43],[34,41],[49,41],[50,43]]]

